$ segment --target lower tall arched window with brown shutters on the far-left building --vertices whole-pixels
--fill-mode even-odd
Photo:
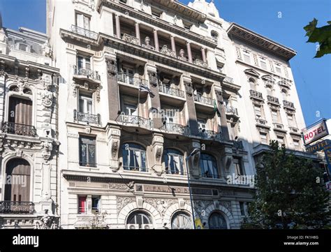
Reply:
[[[6,183],[4,200],[15,202],[30,201],[30,165],[22,158],[13,158],[6,165]],[[8,180],[7,180],[8,181]],[[27,209],[29,212],[29,209]]]

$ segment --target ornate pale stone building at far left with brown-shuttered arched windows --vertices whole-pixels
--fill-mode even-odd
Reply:
[[[58,74],[47,36],[0,14],[0,228],[57,225]]]

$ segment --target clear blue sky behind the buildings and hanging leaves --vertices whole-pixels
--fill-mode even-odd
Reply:
[[[69,0],[68,0],[69,1]],[[193,1],[193,0],[191,0]],[[210,1],[210,0],[207,0]],[[182,0],[189,3],[189,0]],[[330,0],[215,0],[221,17],[297,51],[290,64],[306,124],[331,118],[331,54],[313,59],[316,45],[306,43],[302,27],[314,17],[318,27],[331,20]],[[45,0],[0,0],[3,25],[45,32]],[[281,12],[281,18],[278,17]],[[320,117],[316,117],[318,115]]]

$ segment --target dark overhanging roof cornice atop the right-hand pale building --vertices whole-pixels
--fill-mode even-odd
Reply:
[[[228,28],[227,33],[229,35],[233,35],[237,38],[247,41],[260,48],[261,50],[265,50],[272,54],[276,54],[279,57],[286,59],[287,61],[292,59],[297,53],[295,50],[290,49],[289,47],[285,47],[269,38],[265,38],[260,34],[257,34],[254,31],[251,31],[245,27],[240,26],[239,24],[231,24]]]

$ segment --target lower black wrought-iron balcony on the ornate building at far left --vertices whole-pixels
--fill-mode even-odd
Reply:
[[[0,201],[0,214],[34,214],[33,202]]]

